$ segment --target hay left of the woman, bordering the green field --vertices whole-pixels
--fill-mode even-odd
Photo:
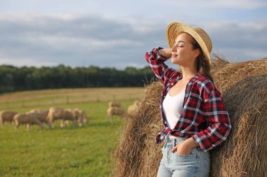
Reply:
[[[162,128],[159,120],[159,98],[162,85],[152,83],[145,88],[138,110],[126,115],[119,140],[113,153],[116,177],[155,176],[161,159],[160,148],[155,144],[155,135]],[[155,148],[152,148],[155,147]]]

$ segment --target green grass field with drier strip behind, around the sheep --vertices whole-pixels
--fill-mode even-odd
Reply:
[[[133,90],[131,97],[128,94],[129,90]],[[105,88],[105,95],[109,95],[110,99],[114,98],[115,93],[124,95],[124,97],[116,97],[119,97],[119,102],[126,110],[142,90],[143,88]],[[103,93],[104,90],[100,89],[100,91]],[[96,95],[100,91],[87,89],[87,92],[91,92],[92,95],[93,92]],[[38,92],[46,94],[41,95]],[[81,90],[72,90],[73,93],[70,90],[68,92],[65,90],[65,92],[77,97],[79,94],[86,93]],[[18,95],[24,95],[25,92],[8,94],[12,100],[8,105],[9,110],[23,113],[32,108],[48,109],[55,105],[40,101],[39,105],[44,106],[28,106],[30,105],[28,102],[34,102],[34,99],[47,100],[47,98],[65,97],[63,93],[64,90],[27,92],[31,95],[30,97],[18,97]],[[0,99],[3,97],[7,95],[1,95]],[[62,108],[82,108],[89,117],[89,123],[83,127],[69,125],[64,128],[57,126],[53,129],[39,130],[37,126],[34,126],[27,131],[25,127],[15,130],[13,125],[5,124],[3,128],[0,128],[0,176],[110,176],[112,150],[118,143],[119,130],[124,121],[121,118],[115,118],[112,123],[108,122],[106,110],[109,100],[105,97],[106,100],[98,97],[100,100],[56,104]],[[18,103],[18,101],[25,101],[25,105],[11,104]],[[5,102],[2,101],[1,104],[3,106]]]

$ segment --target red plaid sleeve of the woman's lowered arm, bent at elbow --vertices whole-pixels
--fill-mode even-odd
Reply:
[[[204,151],[221,146],[232,128],[221,93],[212,85],[212,83],[206,85],[203,92],[202,111],[209,127],[192,136]]]

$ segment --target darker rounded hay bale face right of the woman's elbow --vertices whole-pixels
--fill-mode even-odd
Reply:
[[[224,93],[233,130],[211,151],[211,177],[266,176],[267,74],[250,76]]]

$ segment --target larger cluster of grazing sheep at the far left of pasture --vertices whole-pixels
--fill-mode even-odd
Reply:
[[[72,121],[74,126],[82,126],[89,119],[79,108],[49,108],[48,111],[33,109],[27,113],[0,112],[0,127],[3,127],[4,122],[9,122],[14,123],[17,129],[20,125],[26,125],[27,129],[30,129],[31,125],[39,125],[39,129],[43,129],[43,124],[46,124],[48,128],[54,127],[56,120],[60,120],[60,127],[65,127],[69,121]]]

